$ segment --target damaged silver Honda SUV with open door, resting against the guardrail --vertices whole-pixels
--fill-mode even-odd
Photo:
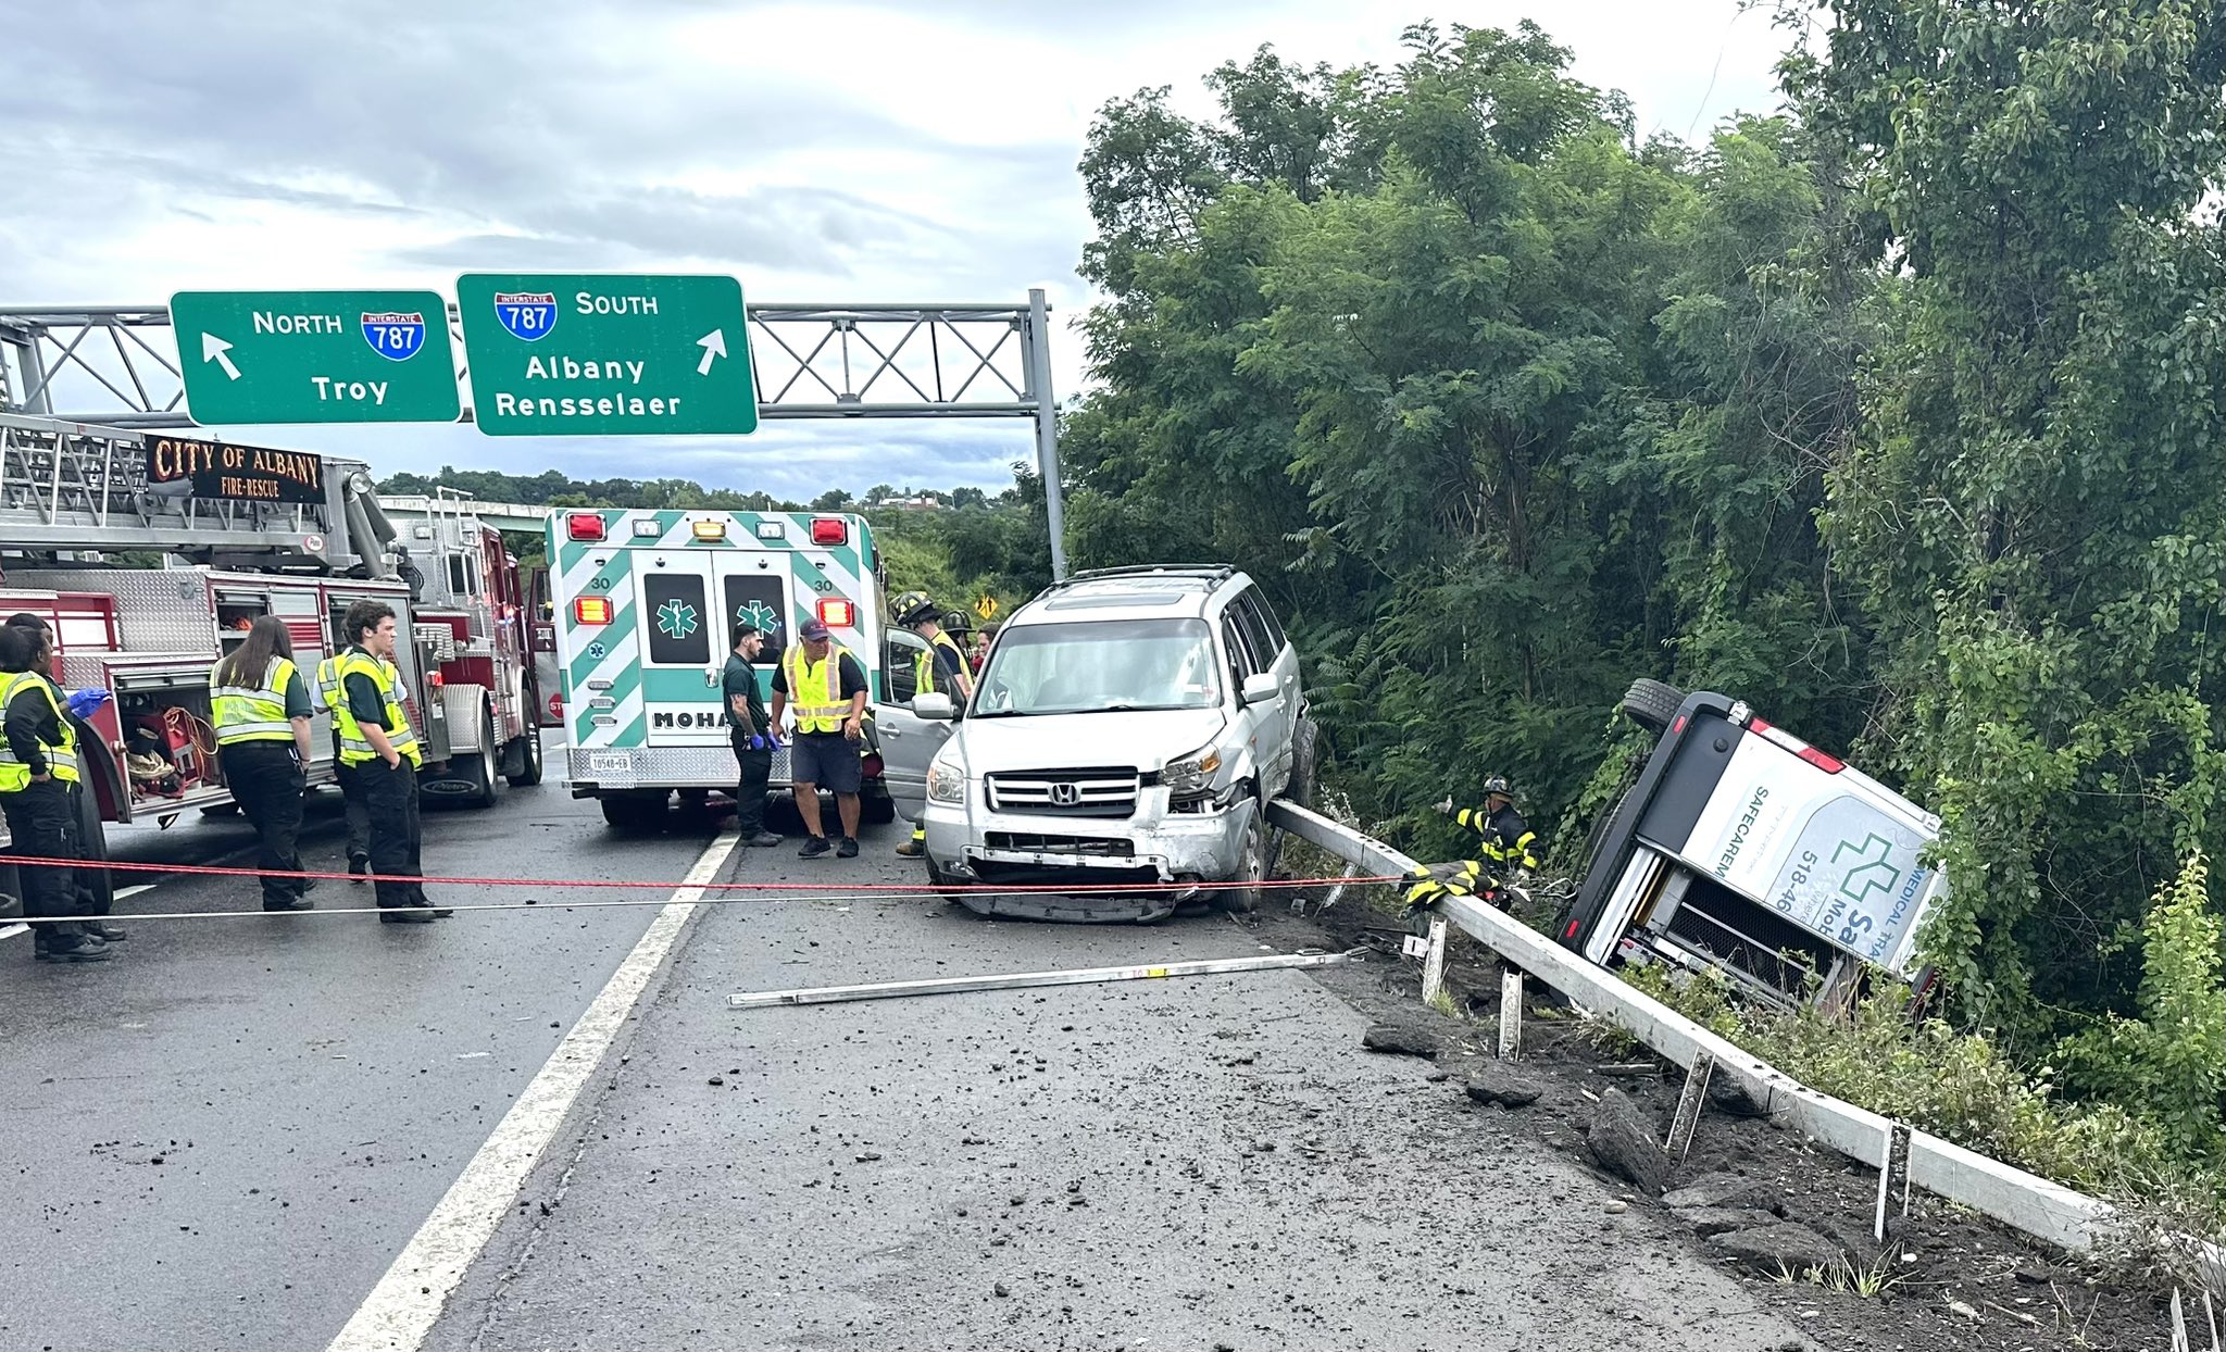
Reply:
[[[915,648],[895,630],[893,648]],[[902,653],[884,670],[908,673]],[[1271,797],[1311,793],[1298,655],[1267,597],[1229,566],[1080,572],[1013,613],[968,708],[877,708],[888,786],[928,833],[935,884],[984,915],[1160,920],[1200,882],[1251,909],[1269,871]]]

